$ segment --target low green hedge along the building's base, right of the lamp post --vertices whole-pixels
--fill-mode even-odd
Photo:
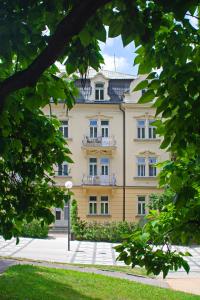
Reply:
[[[78,240],[121,242],[136,227],[131,222],[86,222],[77,220],[73,233]]]

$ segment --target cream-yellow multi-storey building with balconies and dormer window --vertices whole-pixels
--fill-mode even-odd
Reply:
[[[80,94],[72,110],[51,104],[74,161],[57,166],[55,181],[61,187],[73,182],[83,220],[137,222],[147,212],[149,195],[158,192],[154,164],[168,154],[159,149],[152,125],[155,109],[138,104],[141,91],[133,92],[141,79],[90,70],[84,87],[76,80]],[[44,112],[48,115],[49,107]],[[55,214],[55,226],[65,226],[67,207]]]

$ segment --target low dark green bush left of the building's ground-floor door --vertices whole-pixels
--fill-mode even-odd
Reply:
[[[21,236],[32,238],[46,238],[48,236],[49,226],[42,225],[40,221],[33,220],[31,223],[25,223],[22,226]]]

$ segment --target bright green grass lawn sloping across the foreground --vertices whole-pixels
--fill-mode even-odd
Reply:
[[[18,265],[0,276],[1,300],[179,300],[199,296],[103,275]]]

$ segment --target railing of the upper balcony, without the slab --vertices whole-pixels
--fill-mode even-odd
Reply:
[[[83,139],[83,146],[85,147],[115,147],[116,140],[113,136],[111,137],[96,137],[91,138],[85,136]]]

